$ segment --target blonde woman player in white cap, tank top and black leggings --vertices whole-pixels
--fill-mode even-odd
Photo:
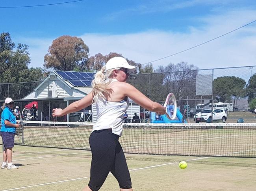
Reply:
[[[122,115],[129,106],[128,97],[149,111],[165,114],[163,106],[151,101],[134,86],[126,83],[129,72],[135,69],[135,66],[129,65],[122,57],[111,58],[95,74],[91,93],[63,110],[53,109],[52,115],[56,117],[96,103],[97,122],[89,138],[92,152],[91,178],[83,191],[98,191],[109,172],[117,179],[120,191],[132,191],[130,173],[119,143],[119,137],[122,135]]]

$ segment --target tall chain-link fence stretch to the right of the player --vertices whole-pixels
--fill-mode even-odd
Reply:
[[[202,109],[215,107],[224,109],[228,118],[233,116],[232,122],[240,116],[247,118],[241,112],[247,112],[251,122],[256,122],[252,114],[254,108],[250,108],[250,102],[256,97],[255,69],[255,66],[248,66],[136,74],[129,82],[160,104],[168,93],[174,93],[181,113],[189,105],[190,112],[186,115],[191,118]]]

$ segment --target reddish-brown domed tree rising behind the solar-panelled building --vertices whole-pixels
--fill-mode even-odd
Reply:
[[[82,38],[68,35],[60,36],[52,42],[45,55],[44,66],[56,70],[84,70],[89,57],[89,47]]]

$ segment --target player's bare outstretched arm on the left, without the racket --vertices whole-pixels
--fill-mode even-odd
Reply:
[[[87,96],[85,96],[81,100],[73,102],[63,110],[59,108],[53,109],[52,116],[59,117],[59,116],[67,115],[72,112],[80,111],[81,109],[90,106],[92,104],[92,101],[93,101],[93,93],[90,92]]]

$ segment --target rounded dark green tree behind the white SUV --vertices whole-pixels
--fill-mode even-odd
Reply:
[[[237,97],[245,96],[246,82],[235,76],[223,76],[213,80],[213,92],[219,102],[230,102],[234,98],[233,111]]]

